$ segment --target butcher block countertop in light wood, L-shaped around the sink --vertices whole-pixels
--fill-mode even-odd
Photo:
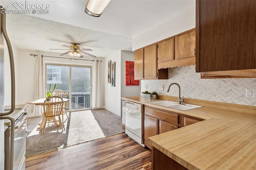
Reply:
[[[205,119],[147,139],[182,166],[190,170],[256,170],[256,107],[185,98],[184,103],[203,107],[180,111],[152,105],[148,102],[156,100],[140,96],[122,99]],[[167,96],[158,100],[178,101]]]

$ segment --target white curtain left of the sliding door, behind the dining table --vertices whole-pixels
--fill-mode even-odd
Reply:
[[[36,77],[35,77],[35,87],[34,87],[34,99],[45,98],[44,93],[44,81],[43,81],[43,56],[37,55],[36,60]],[[41,114],[43,112],[42,106],[34,106],[34,115]]]

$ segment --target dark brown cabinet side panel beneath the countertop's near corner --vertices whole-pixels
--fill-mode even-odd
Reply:
[[[152,147],[153,170],[188,170],[160,150]]]

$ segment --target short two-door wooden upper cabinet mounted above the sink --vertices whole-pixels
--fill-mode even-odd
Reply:
[[[195,29],[158,42],[158,69],[194,65]]]

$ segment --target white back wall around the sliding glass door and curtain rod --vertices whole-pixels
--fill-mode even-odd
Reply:
[[[35,83],[35,69],[36,69],[36,57],[30,56],[30,53],[37,55],[48,55],[48,56],[58,56],[58,53],[50,53],[45,51],[33,51],[26,49],[17,49],[15,52],[16,60],[15,63],[15,76],[16,76],[16,104],[25,104],[26,101],[34,100],[34,83]],[[102,60],[102,58],[96,58],[94,60]],[[103,59],[104,60],[104,59]],[[58,59],[44,57],[44,62],[54,62],[54,63],[66,63],[74,65],[92,65],[92,61],[82,61],[82,60],[71,60],[70,59]],[[102,61],[103,63],[104,61]],[[102,69],[102,74],[104,74],[104,69]],[[5,74],[9,77],[8,74]],[[103,81],[103,80],[102,80]],[[6,81],[8,82],[8,81]],[[6,85],[7,87],[9,84]],[[103,88],[103,104],[104,104],[104,83],[102,83]],[[6,89],[7,90],[7,89]],[[6,94],[7,95],[7,94]],[[6,98],[10,98],[9,95]],[[6,103],[7,105],[8,103]],[[29,105],[27,109],[30,116],[33,113],[33,105]]]

